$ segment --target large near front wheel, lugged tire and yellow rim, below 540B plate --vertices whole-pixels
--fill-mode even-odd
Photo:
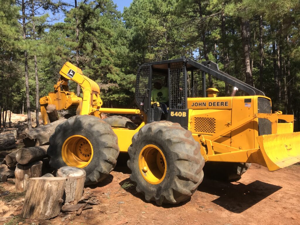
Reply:
[[[128,149],[130,179],[147,201],[177,204],[193,195],[202,182],[204,159],[199,143],[178,123],[143,126]]]

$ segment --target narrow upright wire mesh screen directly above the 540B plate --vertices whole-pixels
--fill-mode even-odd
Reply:
[[[183,62],[170,64],[170,109],[185,109],[185,68]]]

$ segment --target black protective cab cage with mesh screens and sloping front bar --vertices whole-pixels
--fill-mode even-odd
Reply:
[[[151,103],[153,81],[161,79],[163,85],[169,87],[169,108],[187,109],[187,97],[206,96],[206,73],[249,95],[265,96],[262,91],[220,71],[211,61],[198,63],[190,58],[178,58],[141,65],[137,72],[135,101],[146,113]]]

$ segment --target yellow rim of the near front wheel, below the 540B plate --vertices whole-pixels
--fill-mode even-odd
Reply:
[[[155,145],[146,145],[139,155],[139,167],[147,182],[150,184],[161,183],[167,173],[164,153]]]

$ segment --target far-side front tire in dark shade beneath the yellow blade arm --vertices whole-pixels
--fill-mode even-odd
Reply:
[[[238,181],[251,163],[207,162],[203,168],[205,177],[221,181]]]

